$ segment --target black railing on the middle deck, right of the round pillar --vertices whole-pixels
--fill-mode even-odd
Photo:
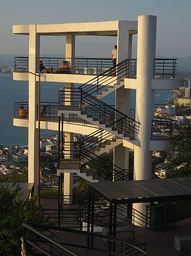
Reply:
[[[171,119],[154,117],[152,121],[152,140],[157,140],[157,138],[167,140],[172,137],[173,131],[174,125]]]

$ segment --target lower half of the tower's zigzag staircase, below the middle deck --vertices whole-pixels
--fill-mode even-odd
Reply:
[[[90,182],[128,180],[129,170],[106,162],[100,154],[121,143],[113,134],[98,129],[78,142],[61,141],[58,169],[76,172]],[[97,153],[97,154],[96,154]]]

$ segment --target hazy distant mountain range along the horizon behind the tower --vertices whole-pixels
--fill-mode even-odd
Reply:
[[[19,57],[24,57],[27,55],[19,55]],[[14,57],[16,55],[0,55],[0,68],[5,67],[14,67]],[[48,57],[48,58],[58,58],[58,55],[42,55],[42,57]],[[90,58],[90,56],[77,56],[78,58]],[[178,59],[178,70],[179,71],[190,71],[191,70],[191,56],[186,58],[181,58],[177,56],[173,57],[165,57],[162,55],[156,56],[157,58],[170,58],[170,59]]]

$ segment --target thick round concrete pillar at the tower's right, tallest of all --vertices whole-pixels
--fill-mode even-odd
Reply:
[[[152,131],[154,90],[153,63],[156,54],[156,16],[138,16],[136,121],[140,122],[137,135],[140,147],[134,150],[134,180],[151,179],[152,152],[149,141]],[[145,204],[135,204],[145,214]]]

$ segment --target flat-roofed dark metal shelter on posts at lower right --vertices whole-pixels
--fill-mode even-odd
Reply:
[[[128,180],[89,184],[88,231],[94,232],[95,194],[109,201],[109,236],[116,237],[118,204],[191,199],[191,178]]]

